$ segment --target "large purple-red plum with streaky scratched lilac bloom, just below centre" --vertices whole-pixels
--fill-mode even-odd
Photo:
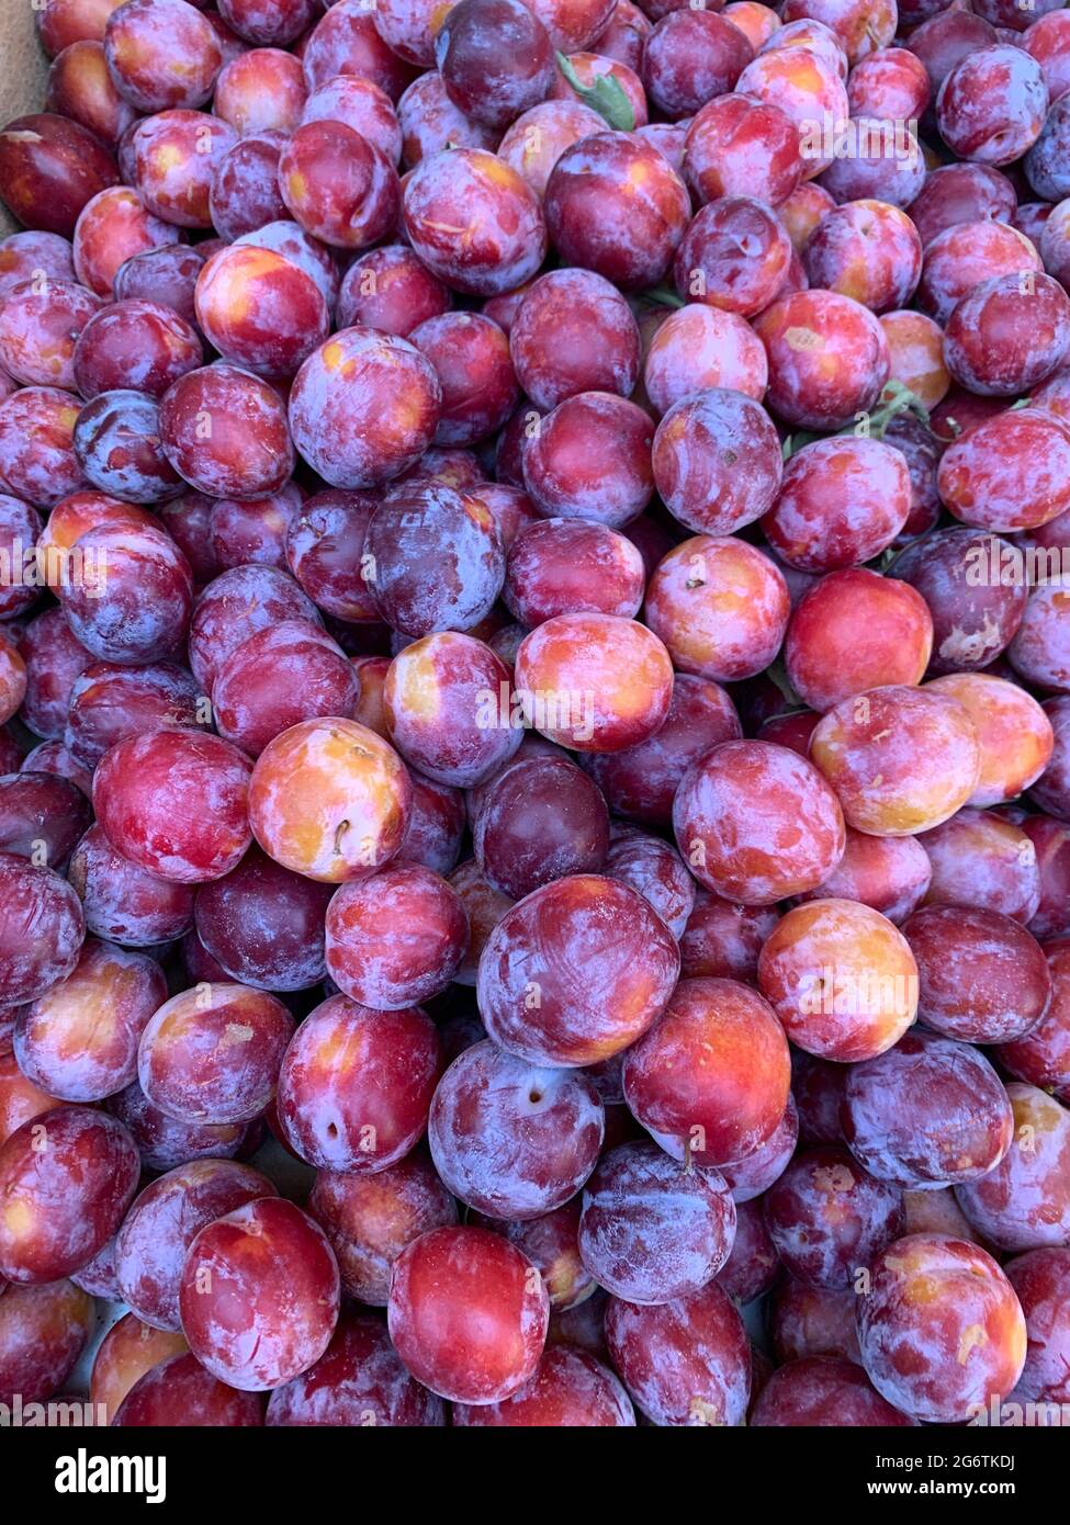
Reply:
[[[479,1011],[490,1037],[528,1063],[594,1064],[647,1031],[678,973],[676,941],[641,895],[569,875],[517,901],[491,930]]]

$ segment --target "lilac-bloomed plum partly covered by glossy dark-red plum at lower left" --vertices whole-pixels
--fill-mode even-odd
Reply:
[[[118,1235],[122,1301],[153,1328],[179,1331],[179,1284],[194,1237],[246,1202],[275,1194],[266,1176],[237,1161],[192,1161],[160,1176],[134,1200]]]

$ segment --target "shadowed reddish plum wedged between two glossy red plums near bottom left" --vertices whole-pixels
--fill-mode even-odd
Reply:
[[[374,1176],[317,1171],[307,1211],[334,1250],[346,1296],[382,1308],[401,1250],[458,1218],[456,1202],[421,1150]]]

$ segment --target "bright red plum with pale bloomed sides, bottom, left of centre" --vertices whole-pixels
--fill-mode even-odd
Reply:
[[[536,1374],[550,1298],[505,1238],[441,1228],[395,1261],[386,1318],[403,1363],[432,1392],[455,1403],[501,1403]]]

